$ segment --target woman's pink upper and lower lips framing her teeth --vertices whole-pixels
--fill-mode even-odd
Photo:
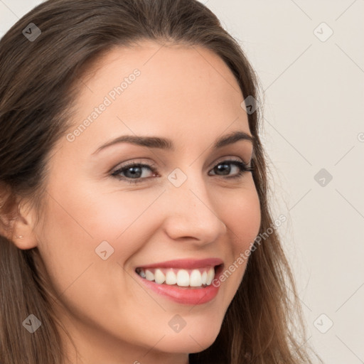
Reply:
[[[149,266],[143,266],[143,268],[169,268],[169,267],[178,267],[180,269],[193,269],[197,267],[204,266],[215,266],[223,264],[221,259],[181,259],[181,260],[171,260],[168,262],[150,264]],[[216,269],[214,279],[219,277],[220,273],[223,271],[223,265],[220,265]],[[141,283],[144,284],[147,288],[152,291],[161,294],[171,301],[175,301],[178,304],[188,304],[188,305],[198,305],[205,304],[209,301],[212,301],[215,296],[217,296],[218,291],[220,289],[220,284],[218,287],[215,287],[213,284],[210,286],[201,288],[201,287],[178,287],[176,285],[168,285],[168,284],[156,284],[156,282],[151,282],[148,279],[142,278],[139,274],[135,273],[138,279],[141,280]],[[214,281],[213,281],[214,282]]]

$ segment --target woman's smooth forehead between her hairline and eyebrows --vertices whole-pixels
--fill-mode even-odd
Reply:
[[[117,134],[161,134],[184,136],[191,144],[201,137],[212,141],[229,127],[250,132],[237,80],[205,48],[151,41],[114,48],[86,70],[78,86],[73,129],[91,121],[79,143],[86,135],[92,142]],[[107,107],[95,114],[102,104]]]

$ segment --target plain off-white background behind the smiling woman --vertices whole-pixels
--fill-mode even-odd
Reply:
[[[262,82],[274,218],[288,218],[309,342],[325,363],[364,363],[364,1],[201,2]],[[0,36],[39,3],[0,0]],[[331,181],[316,182],[321,168]]]

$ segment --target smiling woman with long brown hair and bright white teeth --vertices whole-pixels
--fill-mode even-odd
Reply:
[[[0,61],[1,363],[311,363],[257,80],[215,15],[50,0]]]

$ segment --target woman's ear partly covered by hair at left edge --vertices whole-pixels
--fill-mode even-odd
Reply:
[[[0,235],[14,242],[21,250],[36,247],[38,239],[34,230],[35,213],[25,201],[20,201],[20,198],[16,197],[13,201],[11,205],[9,200],[6,201],[7,211],[0,209]]]

